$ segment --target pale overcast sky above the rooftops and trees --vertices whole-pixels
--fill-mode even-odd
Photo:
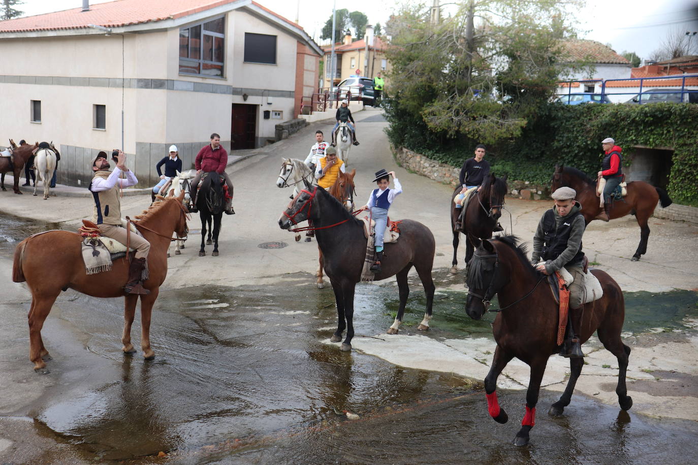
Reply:
[[[107,0],[90,0],[90,4]],[[333,0],[256,0],[289,20],[296,20],[320,43],[320,31],[332,15]],[[422,0],[429,3],[429,0]],[[442,0],[441,3],[452,3]],[[336,8],[362,11],[369,24],[385,22],[403,0],[336,0]],[[40,15],[82,6],[82,0],[25,0],[17,6],[24,15]],[[610,44],[616,52],[636,52],[646,58],[660,47],[672,29],[685,33],[698,31],[698,0],[586,0],[584,7],[570,12],[580,21],[582,38]],[[698,34],[692,38],[693,53],[698,54]]]

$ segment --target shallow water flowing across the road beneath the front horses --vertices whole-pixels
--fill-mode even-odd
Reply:
[[[15,221],[0,233],[3,256],[12,252],[7,241],[17,229],[37,227]],[[436,273],[438,289],[460,279]],[[34,418],[40,434],[98,462],[644,464],[695,454],[695,422],[619,413],[579,395],[563,418],[551,418],[545,412],[558,396],[545,391],[532,443],[514,448],[524,391],[499,391],[511,420],[497,425],[478,383],[340,352],[327,344],[336,326],[332,290],[310,282],[297,273],[271,285],[163,291],[152,362],[121,354],[121,299],[69,290],[43,332],[54,357],[48,376],[57,382],[14,414]],[[418,284],[410,286],[403,334],[415,331],[424,309]],[[393,283],[357,289],[357,338],[392,323],[396,294]],[[628,321],[671,327],[695,308],[692,295],[658,317],[646,311],[649,296],[630,294]],[[429,337],[490,334],[491,315],[472,321],[462,302],[462,292],[437,293]],[[136,340],[139,334],[136,322]],[[31,371],[27,360],[20,366]]]

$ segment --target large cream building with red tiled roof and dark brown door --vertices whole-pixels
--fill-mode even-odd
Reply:
[[[123,147],[149,185],[170,144],[186,169],[212,132],[228,149],[274,139],[312,95],[320,56],[251,0],[118,0],[3,21],[0,140],[52,140],[59,183],[73,185],[98,151]]]

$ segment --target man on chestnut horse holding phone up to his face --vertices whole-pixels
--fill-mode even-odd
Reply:
[[[94,213],[92,222],[97,227],[102,236],[112,238],[115,241],[126,244],[135,249],[135,258],[128,268],[128,282],[124,287],[126,294],[150,294],[148,289],[143,287],[141,279],[145,268],[150,243],[138,234],[129,234],[121,227],[121,203],[119,201],[119,189],[128,188],[138,184],[138,179],[126,167],[126,155],[120,150],[112,152],[112,160],[117,162],[114,171],[109,171],[110,165],[107,161],[106,153],[100,152],[92,162],[94,178],[88,189],[94,197]],[[126,179],[121,178],[121,174],[126,175]],[[129,237],[130,236],[130,237]]]

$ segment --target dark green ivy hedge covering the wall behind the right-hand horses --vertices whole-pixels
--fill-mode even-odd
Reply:
[[[459,167],[473,156],[477,141],[448,138],[410,119],[392,100],[386,130],[395,146],[406,146],[429,158]],[[603,158],[601,140],[613,137],[628,152],[632,146],[674,148],[669,195],[678,204],[698,206],[698,105],[562,105],[537,109],[519,137],[487,147],[498,176],[547,184],[554,166],[563,163],[595,177]]]

